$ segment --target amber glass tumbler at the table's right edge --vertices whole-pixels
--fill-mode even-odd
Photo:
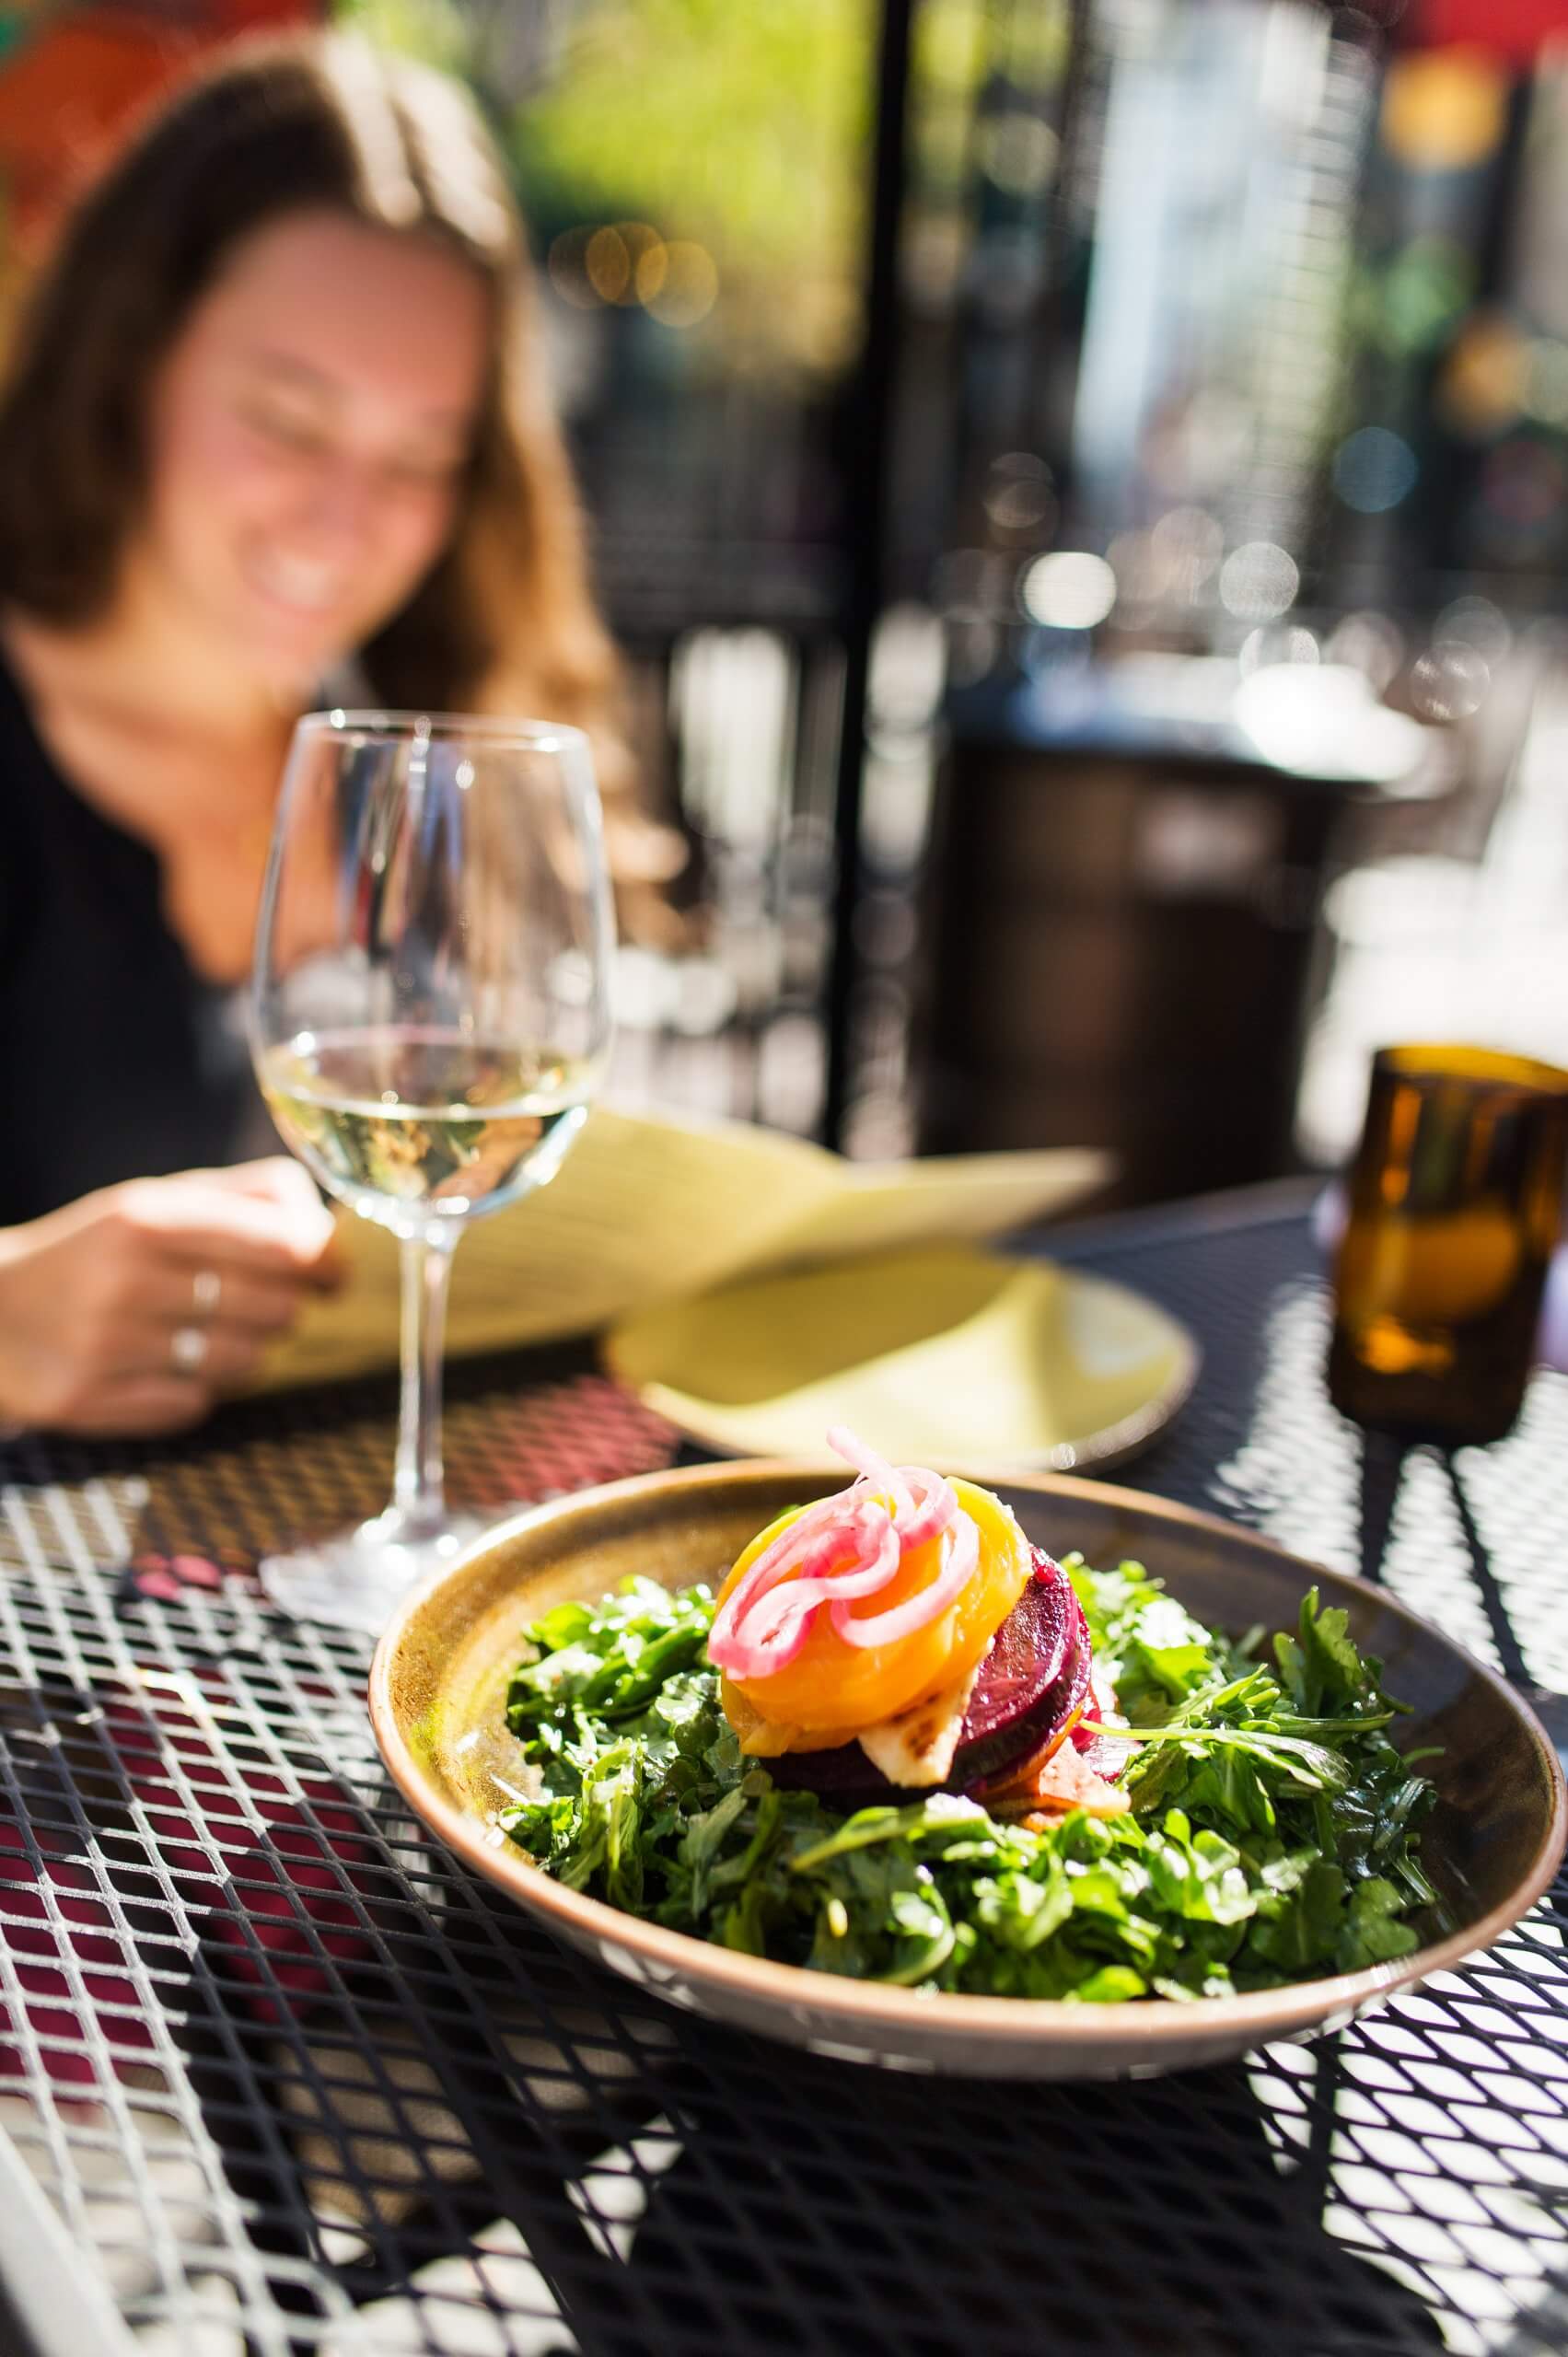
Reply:
[[[1327,1388],[1346,1417],[1450,1442],[1509,1431],[1566,1169],[1568,1072],[1478,1047],[1379,1049],[1335,1273]]]

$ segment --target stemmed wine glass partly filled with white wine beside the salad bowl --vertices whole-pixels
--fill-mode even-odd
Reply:
[[[441,1487],[453,1249],[552,1178],[587,1120],[611,945],[580,731],[410,712],[297,724],[257,929],[257,1080],[304,1167],[403,1247],[391,1504],[262,1563],[299,1619],[380,1631],[476,1527]]]

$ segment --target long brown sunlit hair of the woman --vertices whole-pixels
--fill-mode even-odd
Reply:
[[[144,514],[160,363],[241,238],[318,210],[436,240],[490,295],[457,521],[413,599],[358,651],[373,693],[578,721],[613,787],[625,771],[608,719],[615,655],[587,589],[505,172],[457,82],[354,35],[229,49],[68,219],[0,389],[0,596],[64,627],[106,610]]]

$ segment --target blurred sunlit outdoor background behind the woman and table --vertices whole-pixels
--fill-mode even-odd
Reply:
[[[1335,1164],[1384,1039],[1568,1061],[1568,5],[35,0],[5,292],[321,14],[514,158],[689,844],[625,1094],[1148,1202]]]

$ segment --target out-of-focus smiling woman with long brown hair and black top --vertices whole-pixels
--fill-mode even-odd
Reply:
[[[472,101],[351,38],[231,52],[64,231],[0,391],[0,1421],[189,1424],[330,1282],[236,1014],[302,709],[578,721],[615,856],[540,361]]]

